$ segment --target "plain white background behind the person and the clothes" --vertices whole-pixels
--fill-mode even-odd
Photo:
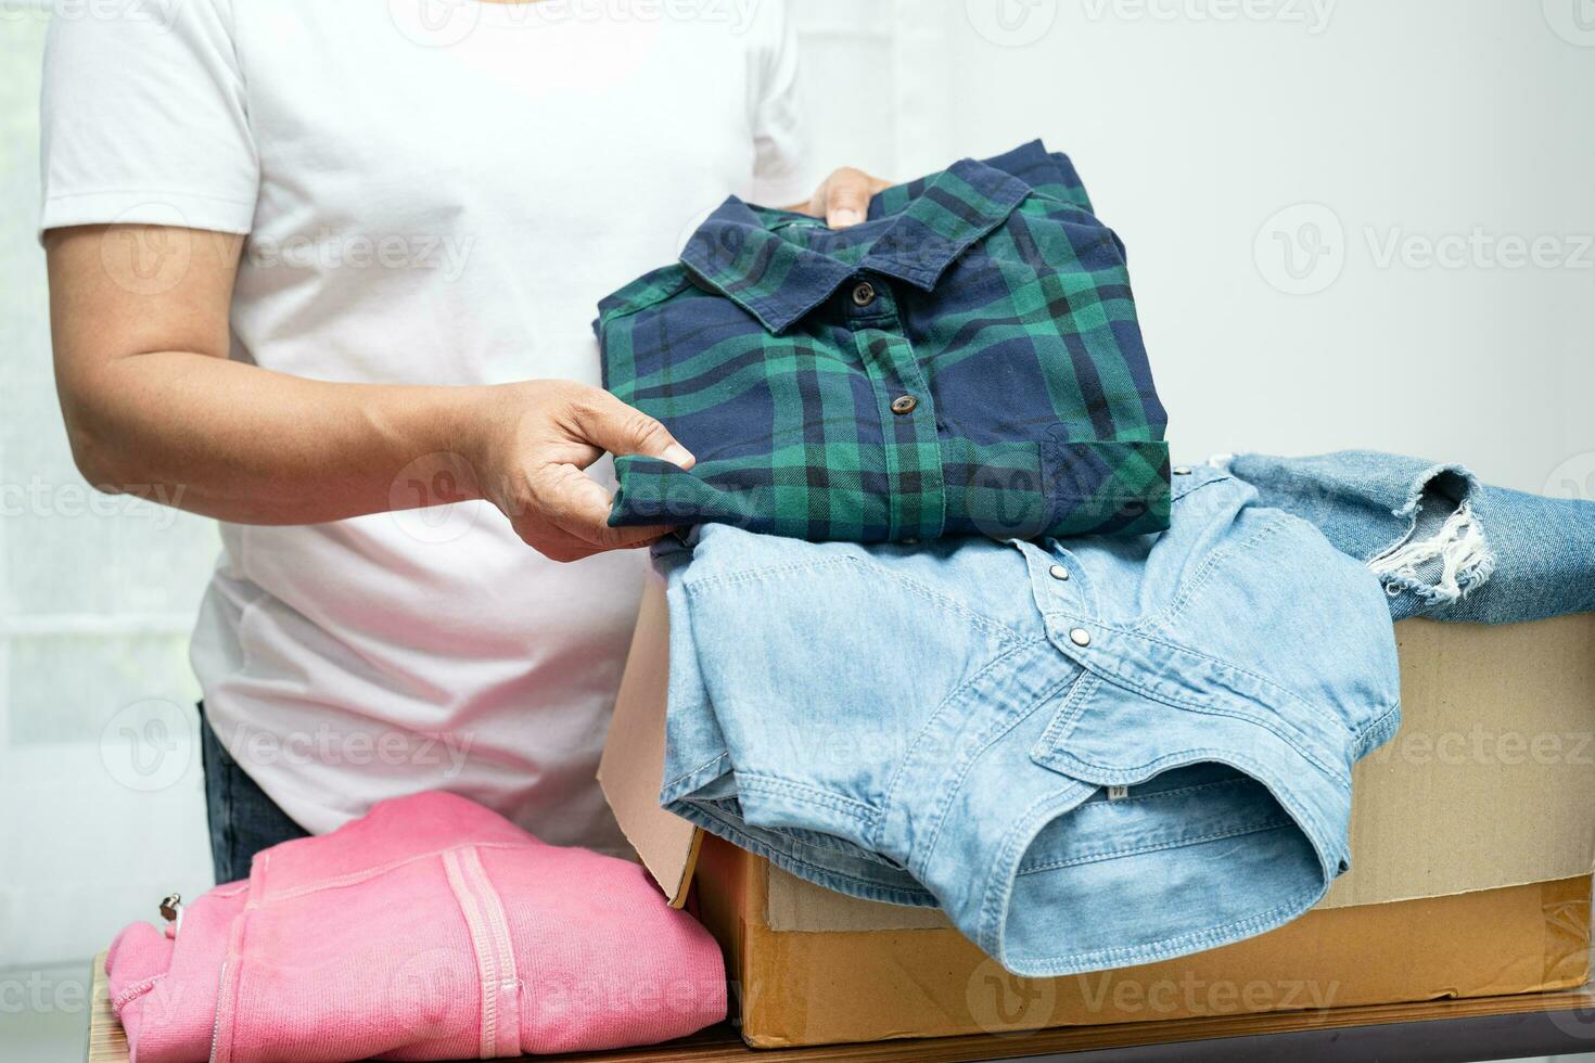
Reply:
[[[823,163],[1073,156],[1129,245],[1183,459],[1370,446],[1592,497],[1581,3],[794,0]],[[196,695],[215,535],[94,504],[72,469],[32,239],[43,30],[0,3],[0,983],[59,1004],[78,967],[53,964],[209,885],[191,735],[137,704]]]

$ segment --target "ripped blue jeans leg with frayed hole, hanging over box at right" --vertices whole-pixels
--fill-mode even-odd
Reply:
[[[1375,451],[1212,464],[1373,569],[1396,620],[1595,612],[1595,502],[1490,488],[1463,465]]]

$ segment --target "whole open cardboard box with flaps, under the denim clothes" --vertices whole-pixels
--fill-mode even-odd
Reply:
[[[939,912],[857,900],[659,808],[668,612],[643,596],[600,783],[660,888],[697,883],[748,1044],[796,1045],[1531,993],[1589,977],[1595,615],[1397,625],[1400,733],[1354,775],[1353,870],[1195,956],[1018,979]]]

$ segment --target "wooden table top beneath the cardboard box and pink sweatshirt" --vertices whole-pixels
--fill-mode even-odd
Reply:
[[[126,1063],[128,1039],[110,1012],[105,956],[94,959],[88,1063]],[[1070,1055],[1070,1060],[1369,1060],[1404,1063],[1595,1052],[1595,983],[1562,993],[1380,1004],[1241,1017],[1065,1026],[1026,1034],[880,1041],[753,1050],[731,1025],[665,1045],[539,1057],[581,1063],[724,1063],[861,1060],[967,1063]],[[1081,1053],[1081,1055],[1072,1055]]]

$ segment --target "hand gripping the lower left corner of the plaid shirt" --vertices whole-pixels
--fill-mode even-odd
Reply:
[[[482,389],[461,454],[475,492],[499,507],[544,556],[576,561],[641,547],[670,528],[609,528],[609,492],[584,469],[611,454],[695,461],[659,421],[606,390],[571,381]]]

